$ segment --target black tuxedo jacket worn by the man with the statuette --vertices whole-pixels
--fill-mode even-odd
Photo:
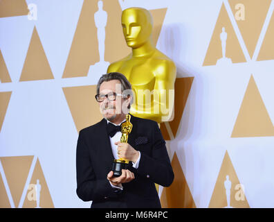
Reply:
[[[77,151],[77,196],[84,201],[93,200],[91,207],[161,207],[154,183],[168,187],[174,173],[167,155],[165,140],[158,123],[131,115],[133,128],[128,143],[140,151],[138,169],[129,162],[135,179],[123,183],[122,191],[111,187],[107,174],[114,160],[107,121],[102,119],[93,126],[80,130]]]

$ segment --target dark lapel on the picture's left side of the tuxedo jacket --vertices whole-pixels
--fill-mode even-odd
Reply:
[[[102,167],[106,167],[106,173],[109,173],[111,171],[112,162],[114,160],[113,153],[111,150],[111,144],[109,141],[109,135],[107,134],[107,121],[105,119],[102,119],[100,123],[100,128],[98,130],[98,151],[99,155],[98,158],[102,157]],[[107,174],[106,174],[107,175]]]

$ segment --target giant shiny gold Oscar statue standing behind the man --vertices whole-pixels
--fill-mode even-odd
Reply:
[[[109,65],[107,72],[118,71],[131,83],[131,114],[161,123],[173,118],[176,66],[152,44],[152,26],[152,15],[144,8],[122,12],[122,31],[132,52]]]

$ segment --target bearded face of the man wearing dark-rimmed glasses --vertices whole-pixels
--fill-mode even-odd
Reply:
[[[100,102],[100,112],[102,113],[104,119],[109,121],[114,121],[119,119],[121,115],[126,114],[125,108],[129,105],[130,100],[124,99],[122,96],[117,96],[121,94],[121,83],[119,80],[110,80],[108,82],[103,82],[100,85],[99,94],[111,94],[116,93],[116,100],[110,101],[104,98],[104,101]]]

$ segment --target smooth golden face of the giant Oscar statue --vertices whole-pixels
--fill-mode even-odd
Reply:
[[[122,12],[122,31],[127,46],[138,48],[149,40],[151,28],[139,10],[134,8]]]

